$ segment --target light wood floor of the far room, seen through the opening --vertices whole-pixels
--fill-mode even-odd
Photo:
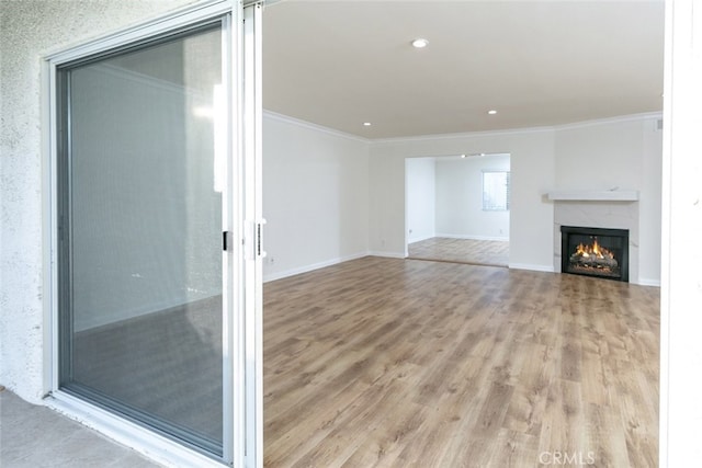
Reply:
[[[410,259],[507,266],[509,242],[434,237],[408,246]]]

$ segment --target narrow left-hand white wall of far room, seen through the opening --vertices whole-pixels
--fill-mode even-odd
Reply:
[[[437,233],[437,183],[434,158],[410,158],[407,171],[407,242]]]

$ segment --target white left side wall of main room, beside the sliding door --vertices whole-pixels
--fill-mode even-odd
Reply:
[[[367,254],[369,145],[264,113],[265,281]]]

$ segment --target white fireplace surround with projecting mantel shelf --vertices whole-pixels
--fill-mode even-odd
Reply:
[[[638,277],[638,191],[554,190],[546,194],[554,202],[554,271],[561,272],[561,226],[629,230],[629,281]]]

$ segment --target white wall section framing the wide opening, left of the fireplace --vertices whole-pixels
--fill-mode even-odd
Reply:
[[[553,271],[553,204],[543,194],[555,184],[554,132],[532,129],[374,141],[370,250],[404,256],[406,158],[510,153],[510,265]]]

